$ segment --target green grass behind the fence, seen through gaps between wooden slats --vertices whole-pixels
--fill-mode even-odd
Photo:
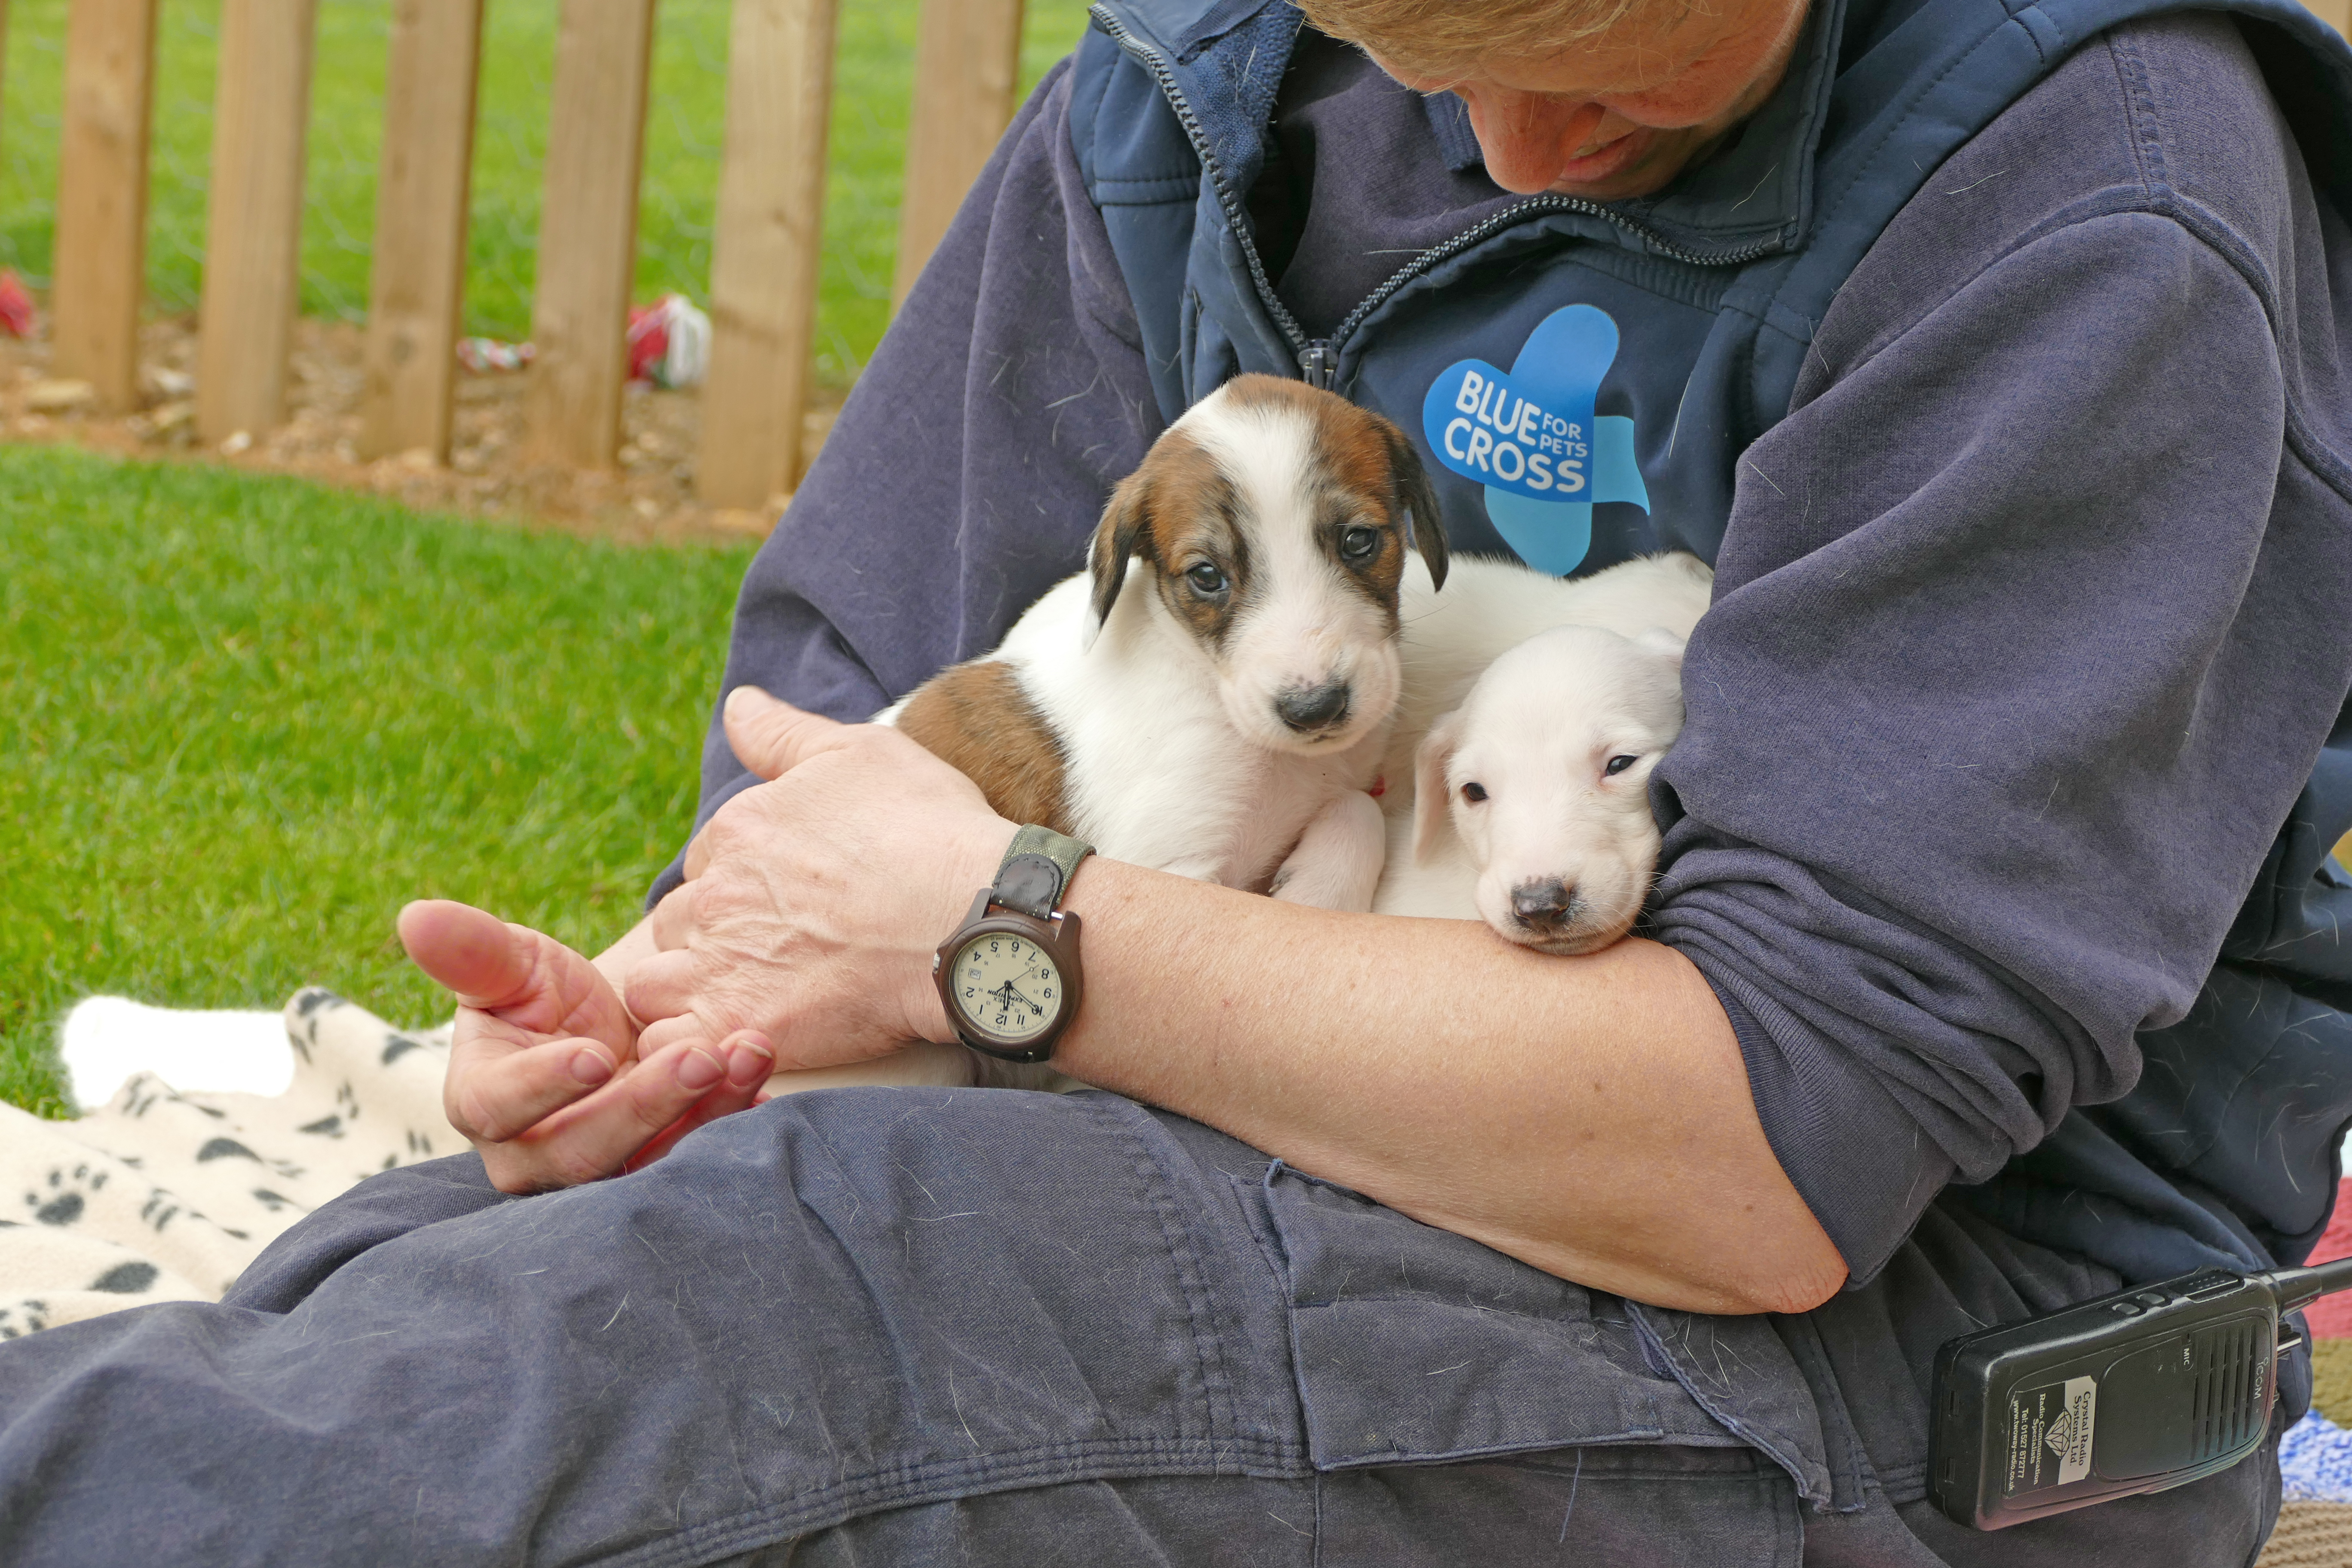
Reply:
[[[661,0],[647,115],[637,244],[642,299],[677,289],[710,299],[710,212],[727,110],[731,0]],[[818,296],[818,378],[847,386],[889,320],[920,0],[842,5]],[[56,136],[68,0],[14,0],[0,92],[0,266],[45,284],[56,219]],[[202,284],[205,181],[212,158],[212,63],[219,0],[162,7],[148,289],[162,310],[193,310]],[[475,129],[470,331],[520,339],[532,322],[539,174],[555,63],[555,0],[489,0]],[[1084,0],[1030,0],[1021,89],[1068,54]],[[390,0],[318,7],[310,108],[303,310],[358,320],[376,214],[383,49]]]

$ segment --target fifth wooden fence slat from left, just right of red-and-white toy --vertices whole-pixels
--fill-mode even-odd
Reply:
[[[800,480],[840,0],[736,0],[710,242],[696,494],[757,508]]]

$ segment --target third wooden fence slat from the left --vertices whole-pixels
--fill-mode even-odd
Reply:
[[[482,0],[400,0],[383,80],[360,456],[449,461]]]

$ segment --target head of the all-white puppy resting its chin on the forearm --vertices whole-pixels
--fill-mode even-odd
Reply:
[[[1543,952],[1625,936],[1649,896],[1649,773],[1682,733],[1682,644],[1559,625],[1496,658],[1414,759],[1374,907],[1477,914]]]

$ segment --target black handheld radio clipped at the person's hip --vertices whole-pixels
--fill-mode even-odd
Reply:
[[[1985,1328],[1936,1352],[1929,1495],[1964,1526],[2161,1493],[2270,1434],[2279,1321],[2352,1288],[2352,1258],[2204,1269]]]

